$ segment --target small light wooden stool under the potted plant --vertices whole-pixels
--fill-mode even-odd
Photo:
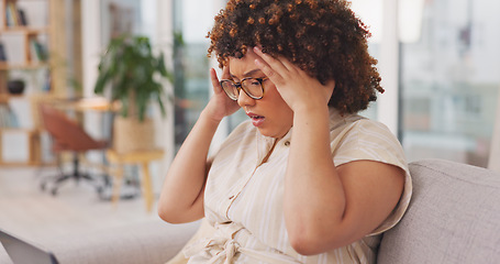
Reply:
[[[112,202],[116,205],[120,196],[120,188],[123,183],[123,164],[136,164],[142,167],[142,179],[141,186],[144,194],[144,200],[146,202],[146,210],[148,212],[153,209],[154,202],[154,194],[153,194],[153,185],[149,175],[149,162],[159,160],[164,156],[163,150],[152,150],[152,151],[141,151],[141,152],[133,152],[133,153],[125,153],[120,154],[116,153],[114,150],[108,150],[107,157],[110,164],[116,164],[119,168],[113,174],[113,195],[112,195]]]

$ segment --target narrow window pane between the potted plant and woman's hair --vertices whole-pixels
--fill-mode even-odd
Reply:
[[[207,105],[211,82],[207,32],[213,24],[211,1],[174,0],[175,144],[180,147]]]

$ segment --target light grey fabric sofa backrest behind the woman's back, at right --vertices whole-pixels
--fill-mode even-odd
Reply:
[[[410,164],[413,197],[384,234],[378,263],[496,263],[500,174],[442,160]]]

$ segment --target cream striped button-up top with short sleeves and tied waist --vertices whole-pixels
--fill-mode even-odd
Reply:
[[[207,220],[215,233],[185,250],[189,263],[375,263],[380,233],[403,216],[411,197],[411,177],[403,150],[381,123],[357,114],[330,112],[331,150],[335,166],[359,160],[404,169],[404,190],[397,208],[371,234],[347,246],[304,256],[290,245],[282,197],[292,129],[277,142],[249,121],[240,124],[215,153],[204,195]]]

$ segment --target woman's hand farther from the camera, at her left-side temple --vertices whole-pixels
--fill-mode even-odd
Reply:
[[[231,100],[222,90],[214,68],[210,69],[210,78],[212,80],[213,96],[204,108],[204,112],[214,121],[220,122],[224,117],[236,112],[240,109],[240,106],[236,101]],[[222,69],[222,79],[230,78],[230,69],[225,66]]]

